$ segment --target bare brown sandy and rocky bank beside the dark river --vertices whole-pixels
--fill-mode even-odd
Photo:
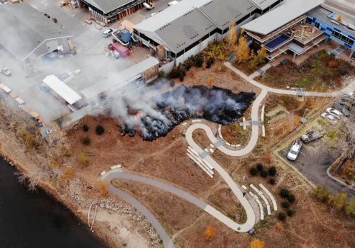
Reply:
[[[4,134],[3,132],[0,133],[0,156],[4,157],[4,159],[11,164],[11,166],[16,167],[16,169],[22,174],[29,174],[33,171],[38,170],[33,162],[26,157],[26,154],[23,152],[23,148],[18,145],[11,137]],[[80,185],[81,180],[75,179],[72,180],[73,185]],[[119,199],[113,198],[102,198],[102,199],[92,199],[92,198],[85,198],[81,196],[80,193],[75,193],[74,190],[70,190],[72,186],[67,186],[65,190],[62,188],[55,188],[55,186],[51,185],[48,181],[44,181],[40,179],[37,184],[38,187],[42,188],[43,191],[48,193],[50,197],[53,197],[55,201],[64,205],[67,209],[69,209],[75,216],[82,222],[82,224],[87,225],[87,210],[89,209],[89,205],[92,203],[96,203],[100,210],[108,211],[109,215],[114,213],[124,216],[121,218],[128,217],[131,222],[133,220],[133,225],[135,228],[127,228],[126,226],[119,225],[115,228],[111,227],[112,220],[108,215],[103,215],[104,218],[101,218],[100,221],[96,221],[94,224],[94,235],[102,240],[105,244],[109,247],[121,247],[119,241],[120,228],[124,228],[126,233],[131,234],[131,241],[134,243],[136,240],[134,239],[145,239],[143,240],[143,244],[140,244],[139,247],[163,247],[160,244],[160,237],[155,232],[151,224],[146,220],[146,218],[139,213],[135,208],[131,205],[121,201]],[[115,220],[116,222],[116,220]],[[117,222],[124,222],[121,219],[117,220]],[[108,225],[107,223],[111,223]],[[137,228],[138,227],[138,228]],[[136,233],[137,230],[141,230],[141,233]],[[121,239],[127,239],[127,237],[121,237]],[[139,243],[139,242],[138,242]],[[126,243],[123,244],[126,246]],[[134,247],[137,246],[133,245]],[[130,247],[130,246],[128,246]]]

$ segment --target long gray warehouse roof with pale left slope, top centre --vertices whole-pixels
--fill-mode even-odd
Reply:
[[[265,1],[271,5],[278,0]],[[134,29],[178,53],[215,28],[224,30],[255,9],[251,0],[182,0]]]

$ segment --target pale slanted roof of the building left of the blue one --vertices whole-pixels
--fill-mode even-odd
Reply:
[[[302,16],[302,14],[315,9],[315,7],[320,6],[323,2],[323,0],[286,1],[285,4],[249,23],[246,23],[244,26],[241,26],[241,28],[251,32],[260,33],[261,35],[267,35],[298,16]]]

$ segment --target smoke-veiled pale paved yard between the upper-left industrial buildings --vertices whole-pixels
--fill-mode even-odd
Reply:
[[[124,20],[133,24],[141,22],[144,18],[151,16],[151,13],[168,7],[169,0],[153,1],[155,9],[148,11],[141,9],[136,13],[126,16],[123,20],[114,23],[110,28],[119,28]],[[131,67],[133,64],[146,60],[149,55],[148,49],[133,47],[131,55],[119,60],[107,57],[107,46],[112,43],[112,38],[104,38],[102,30],[95,28],[95,23],[88,25],[84,21],[89,18],[87,9],[72,9],[70,6],[60,8],[60,0],[28,0],[35,9],[51,18],[56,18],[58,24],[74,35],[71,39],[75,45],[77,54],[74,56],[62,57],[54,61],[40,61],[35,65],[37,73],[26,77],[21,64],[15,60],[6,59],[0,62],[0,67],[9,67],[11,77],[0,74],[1,83],[9,86],[11,90],[26,102],[26,106],[40,114],[40,118],[49,122],[55,118],[70,113],[69,108],[63,105],[50,94],[40,91],[40,82],[49,74],[73,74],[80,69],[79,74],[73,74],[73,79],[67,85],[78,93],[82,90],[97,84],[99,81],[119,80],[115,78],[117,72]],[[1,52],[1,51],[0,51]],[[0,56],[4,56],[3,53]],[[6,61],[6,63],[5,63]]]

